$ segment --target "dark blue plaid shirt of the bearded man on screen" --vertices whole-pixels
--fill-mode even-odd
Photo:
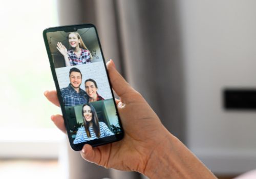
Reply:
[[[88,102],[88,95],[83,89],[79,88],[79,93],[69,84],[68,87],[60,89],[61,97],[65,106],[81,105]]]

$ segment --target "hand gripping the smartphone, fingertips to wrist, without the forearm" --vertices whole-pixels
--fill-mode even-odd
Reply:
[[[159,145],[164,146],[169,132],[144,98],[117,72],[114,62],[110,60],[106,65],[114,91],[120,97],[116,103],[125,132],[124,138],[94,148],[86,144],[81,155],[85,160],[106,168],[145,173],[152,152]],[[45,96],[59,106],[56,91],[47,91]],[[66,132],[61,115],[52,116],[51,119],[60,130]]]

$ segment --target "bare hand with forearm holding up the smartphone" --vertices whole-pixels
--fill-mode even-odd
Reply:
[[[118,170],[138,171],[150,178],[217,179],[182,142],[169,133],[144,98],[116,71],[114,62],[106,64],[124,128],[121,141],[92,148],[83,146],[83,159]],[[45,92],[59,106],[56,91]],[[66,132],[61,115],[51,117]]]

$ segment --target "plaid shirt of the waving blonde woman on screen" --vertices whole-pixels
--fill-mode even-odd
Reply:
[[[91,55],[89,50],[81,49],[80,57],[77,58],[73,50],[68,51],[69,62],[71,66],[86,64],[91,62]]]

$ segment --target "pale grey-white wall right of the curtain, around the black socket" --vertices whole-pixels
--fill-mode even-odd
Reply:
[[[177,1],[188,147],[217,173],[256,168],[255,111],[225,111],[222,89],[256,87],[256,1]]]

